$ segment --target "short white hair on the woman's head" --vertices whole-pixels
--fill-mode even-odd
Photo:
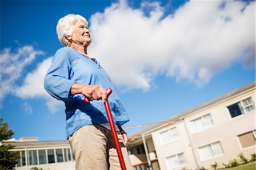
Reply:
[[[58,38],[60,40],[60,43],[63,44],[64,46],[68,46],[68,39],[65,38],[66,35],[72,35],[73,27],[77,23],[77,21],[84,22],[86,26],[88,26],[88,21],[81,15],[79,14],[68,14],[64,16],[63,18],[60,18],[56,31]]]

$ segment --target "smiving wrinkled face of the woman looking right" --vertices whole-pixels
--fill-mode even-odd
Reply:
[[[87,47],[90,44],[90,32],[84,22],[80,20],[73,27],[72,43]]]

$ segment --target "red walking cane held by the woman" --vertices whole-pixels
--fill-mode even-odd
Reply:
[[[107,93],[107,96],[109,97],[109,95],[112,93],[112,89],[108,88],[106,90],[106,93]],[[90,103],[89,99],[86,98],[86,97],[84,97],[84,101],[86,103]],[[120,165],[121,165],[121,169],[126,170],[125,161],[123,160],[123,155],[122,155],[121,147],[120,147],[120,144],[119,144],[119,141],[118,141],[118,138],[117,138],[117,132],[115,130],[115,125],[114,125],[113,117],[112,117],[112,114],[111,114],[111,111],[110,111],[108,99],[104,103],[104,105],[105,105],[106,113],[107,113],[108,118],[109,118],[109,125],[110,125],[111,131],[112,131],[113,139],[114,139],[114,142],[115,142],[115,147],[117,148],[117,155],[118,155],[118,159],[119,159],[119,162],[120,162]]]

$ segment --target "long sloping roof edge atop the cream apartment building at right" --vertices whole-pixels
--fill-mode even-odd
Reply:
[[[184,111],[183,113],[174,115],[162,122],[158,122],[157,123],[158,125],[154,125],[154,123],[152,123],[154,126],[149,126],[149,127],[143,128],[142,130],[135,132],[135,134],[129,136],[129,142],[133,142],[134,140],[137,140],[138,138],[141,137],[141,134],[143,134],[144,132],[148,132],[148,131],[153,130],[154,128],[160,127],[162,125],[168,125],[171,122],[180,121],[181,119],[188,117],[189,115],[192,115],[192,114],[196,113],[197,111],[217,105],[219,102],[223,102],[229,98],[236,97],[236,96],[240,95],[241,93],[246,93],[250,90],[255,89],[255,87],[256,87],[256,81],[251,82],[250,84],[247,84],[245,86],[242,86],[241,88],[238,88],[236,90],[233,90],[232,92],[226,93],[221,97],[212,99],[211,101],[208,101],[199,106],[193,107],[192,109]]]

